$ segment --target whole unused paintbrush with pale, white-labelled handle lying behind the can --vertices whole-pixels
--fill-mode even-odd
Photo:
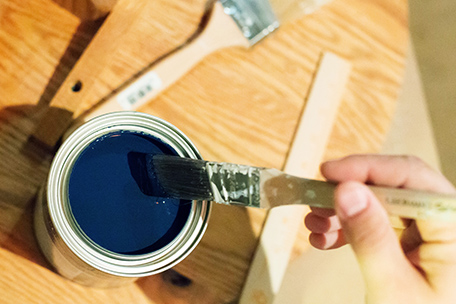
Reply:
[[[95,116],[136,110],[170,87],[207,55],[228,47],[250,48],[282,24],[310,14],[331,0],[209,1],[198,31],[175,51],[152,63],[104,98],[89,112]]]

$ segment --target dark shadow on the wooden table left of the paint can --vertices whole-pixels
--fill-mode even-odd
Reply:
[[[29,140],[38,117],[35,106],[0,110],[0,246],[44,266],[33,233],[33,209],[53,153]]]

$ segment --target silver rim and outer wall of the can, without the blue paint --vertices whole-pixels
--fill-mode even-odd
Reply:
[[[72,172],[79,166],[78,160],[88,153],[85,151],[93,149],[94,143],[110,134],[114,134],[111,136],[114,138],[125,132],[158,140],[176,155],[201,158],[194,144],[176,127],[138,112],[115,112],[96,117],[65,139],[37,198],[35,234],[42,252],[57,272],[83,285],[112,287],[163,272],[190,254],[207,226],[210,202],[189,201],[188,215],[183,217],[178,231],[166,244],[153,250],[119,252],[98,244],[87,233],[82,221],[75,216],[76,205],[71,203],[74,196],[70,200]]]

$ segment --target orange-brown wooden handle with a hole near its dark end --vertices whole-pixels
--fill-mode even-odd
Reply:
[[[85,97],[104,67],[110,63],[148,0],[119,0],[76,65],[59,87],[33,136],[54,147],[80,111]]]

